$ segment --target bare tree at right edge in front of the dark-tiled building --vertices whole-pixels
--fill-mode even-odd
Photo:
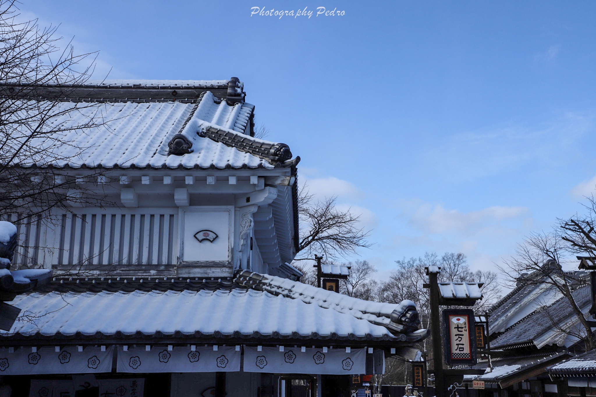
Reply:
[[[570,336],[580,335],[589,350],[596,348],[596,338],[573,293],[578,287],[586,285],[588,278],[582,277],[583,272],[563,271],[560,264],[569,251],[588,254],[593,252],[589,247],[581,246],[585,243],[583,239],[587,238],[584,233],[592,233],[588,227],[590,223],[589,217],[580,218],[576,215],[570,220],[560,220],[559,229],[563,229],[562,233],[557,228],[551,232],[531,233],[520,243],[516,256],[500,267],[506,280],[512,284],[548,285],[557,290],[569,302],[570,314],[576,317],[581,326],[579,329],[563,329],[558,319],[553,320],[550,327],[561,328],[561,332]],[[584,229],[585,227],[588,229]]]

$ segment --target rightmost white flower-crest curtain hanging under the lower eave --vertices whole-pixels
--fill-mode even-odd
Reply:
[[[350,375],[366,372],[365,349],[244,348],[245,372]]]

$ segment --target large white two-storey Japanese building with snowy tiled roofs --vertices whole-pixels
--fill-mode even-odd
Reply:
[[[55,178],[80,186],[72,207],[17,224],[13,266],[54,277],[10,302],[21,317],[0,333],[0,375],[14,396],[346,396],[349,375],[418,353],[412,302],[297,281],[300,159],[254,137],[235,77],[23,99],[87,104],[80,117],[101,107],[107,121],[54,153]]]

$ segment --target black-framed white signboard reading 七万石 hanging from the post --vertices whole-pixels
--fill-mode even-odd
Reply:
[[[443,310],[445,362],[476,364],[476,327],[472,310]]]

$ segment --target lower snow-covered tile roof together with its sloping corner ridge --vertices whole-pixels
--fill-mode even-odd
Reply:
[[[294,296],[231,280],[54,280],[11,302],[21,308],[23,317],[10,332],[0,332],[0,337],[405,340],[374,321],[399,305],[330,295],[323,289],[318,290],[324,296],[318,295],[311,290],[314,287],[292,283],[293,290],[288,293]],[[305,293],[314,298],[303,296]]]

